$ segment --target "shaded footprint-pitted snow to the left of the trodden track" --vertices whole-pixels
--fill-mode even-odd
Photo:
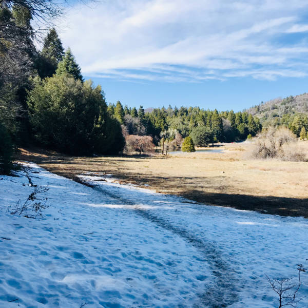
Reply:
[[[45,218],[5,214],[33,190],[26,177],[1,180],[0,306],[178,307],[198,303],[208,273],[196,249],[114,199],[40,170]],[[13,182],[12,182],[13,181]],[[91,205],[90,205],[91,204]],[[106,205],[106,206],[105,206]],[[209,273],[207,275],[210,275]]]

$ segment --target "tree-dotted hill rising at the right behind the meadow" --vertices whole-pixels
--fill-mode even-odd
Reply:
[[[260,119],[263,126],[292,125],[305,126],[308,115],[308,93],[277,98],[245,110]]]

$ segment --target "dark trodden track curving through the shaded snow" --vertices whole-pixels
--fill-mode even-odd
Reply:
[[[135,206],[134,210],[138,215],[155,223],[161,228],[180,236],[190,245],[198,249],[216,278],[216,281],[207,287],[206,292],[198,294],[201,306],[208,308],[225,308],[238,301],[238,280],[236,279],[236,272],[220,257],[220,253],[214,247],[213,243],[198,238],[187,229],[175,226],[169,221],[164,220],[162,217],[153,215],[150,210],[139,208],[137,202],[131,201],[120,194],[115,194],[115,192],[111,192],[110,187],[108,190],[104,189],[103,185],[91,184],[91,187],[103,192],[103,194],[108,195],[108,197],[119,200],[125,205]],[[201,306],[196,304],[194,305],[194,308],[199,308]]]

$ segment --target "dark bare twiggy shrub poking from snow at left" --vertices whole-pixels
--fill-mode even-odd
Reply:
[[[18,200],[15,207],[11,209],[10,214],[18,216],[23,215],[28,218],[42,218],[43,209],[48,207],[48,205],[46,205],[48,198],[40,198],[37,195],[44,194],[48,190],[49,188],[45,186],[35,186],[27,200],[24,203]],[[9,209],[10,207],[8,207],[7,211]]]

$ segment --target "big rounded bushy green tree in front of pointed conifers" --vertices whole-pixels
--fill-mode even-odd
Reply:
[[[116,153],[124,146],[118,140],[123,138],[120,124],[110,119],[104,93],[91,81],[55,74],[35,85],[28,108],[33,137],[47,148],[88,155]]]

